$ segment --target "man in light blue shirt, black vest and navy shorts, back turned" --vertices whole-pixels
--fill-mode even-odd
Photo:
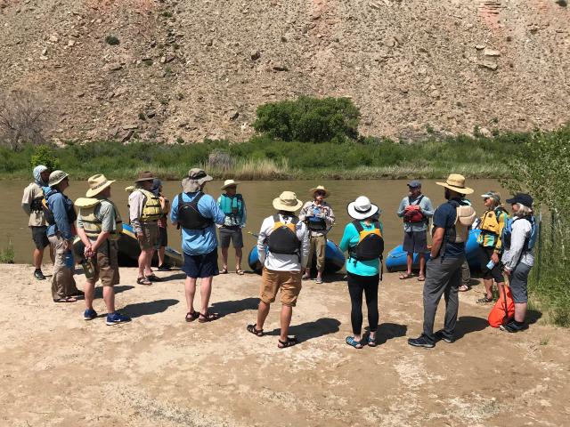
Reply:
[[[187,322],[198,319],[199,323],[205,323],[220,317],[218,313],[208,310],[212,279],[219,274],[215,224],[222,225],[225,221],[225,215],[214,197],[204,193],[206,183],[213,179],[199,168],[191,169],[182,180],[183,192],[172,200],[170,221],[173,225],[182,227],[182,270],[186,273],[184,292],[188,304]],[[199,289],[202,301],[201,309],[196,311],[194,295],[198,278],[201,278]]]

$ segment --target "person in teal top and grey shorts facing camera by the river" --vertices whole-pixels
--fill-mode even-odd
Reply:
[[[243,247],[243,234],[241,229],[246,226],[246,202],[243,196],[237,192],[237,186],[240,182],[233,180],[225,180],[221,189],[225,191],[217,199],[217,205],[220,206],[225,215],[224,225],[220,226],[220,248],[222,249],[222,262],[224,266],[220,271],[221,274],[228,272],[228,248],[230,241],[233,242],[235,249],[235,272],[239,275],[243,274],[241,270],[241,256]]]

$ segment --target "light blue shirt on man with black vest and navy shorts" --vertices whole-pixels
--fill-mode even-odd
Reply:
[[[183,193],[183,202],[191,202],[195,193]],[[217,205],[214,197],[205,194],[198,201],[198,211],[206,218],[211,218],[216,224],[223,224],[225,215]],[[170,221],[178,222],[178,195],[172,200],[172,208],[170,209]],[[217,247],[216,226],[210,225],[204,230],[189,230],[182,228],[182,250],[189,255],[209,254]]]

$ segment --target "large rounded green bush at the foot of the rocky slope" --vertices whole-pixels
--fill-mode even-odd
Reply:
[[[360,111],[348,98],[299,97],[257,108],[253,127],[282,141],[346,141],[358,137]]]

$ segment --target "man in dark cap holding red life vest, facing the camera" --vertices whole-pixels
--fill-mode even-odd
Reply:
[[[428,222],[434,215],[431,200],[421,194],[421,182],[413,180],[408,182],[409,194],[403,197],[398,207],[397,215],[403,218],[403,250],[408,253],[405,273],[401,279],[411,278],[413,254],[419,256],[418,280],[426,279],[426,254],[428,254]]]

